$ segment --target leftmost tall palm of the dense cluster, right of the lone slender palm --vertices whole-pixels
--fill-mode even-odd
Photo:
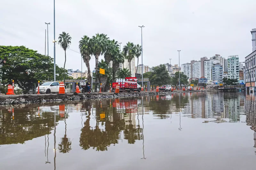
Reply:
[[[80,49],[81,56],[83,57],[84,63],[88,70],[87,81],[91,82],[92,77],[91,77],[89,61],[91,60],[90,55],[92,55],[92,49],[91,49],[91,44],[90,44],[90,38],[88,36],[84,35],[84,37],[81,38],[81,40],[79,41],[79,49]]]

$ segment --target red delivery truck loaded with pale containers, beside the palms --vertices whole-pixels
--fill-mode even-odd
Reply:
[[[124,91],[140,92],[141,90],[141,87],[138,84],[138,80],[136,77],[126,77],[125,79],[124,78],[116,79],[116,82],[112,83],[112,92],[115,92],[117,84],[119,85],[119,92],[124,92]]]

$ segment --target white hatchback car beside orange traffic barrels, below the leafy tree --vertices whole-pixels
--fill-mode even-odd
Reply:
[[[39,93],[57,93],[59,92],[60,84],[57,81],[45,82],[39,85]],[[38,92],[38,86],[36,87],[36,93]]]

